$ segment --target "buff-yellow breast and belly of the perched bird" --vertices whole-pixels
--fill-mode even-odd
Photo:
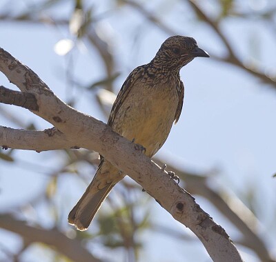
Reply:
[[[177,85],[161,83],[132,86],[113,124],[113,129],[129,140],[135,139],[152,157],[166,141],[179,102]]]

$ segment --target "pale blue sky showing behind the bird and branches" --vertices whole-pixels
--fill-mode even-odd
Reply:
[[[20,2],[21,8],[25,8],[24,1]],[[217,12],[212,2],[206,3],[210,15]],[[243,8],[252,10],[254,1],[245,2],[247,4],[237,1]],[[109,1],[101,3],[90,1],[90,3],[94,4],[99,14],[110,8]],[[164,15],[166,23],[179,34],[194,37],[200,48],[210,54],[224,54],[225,50],[215,33],[202,23],[193,21],[187,6],[175,8],[177,1],[173,1],[175,6],[160,3],[161,1],[152,1],[148,4],[148,8],[155,10],[154,8],[158,7],[157,10],[161,14],[166,14]],[[262,3],[261,8],[268,7],[268,1],[262,1]],[[3,6],[7,8],[4,4]],[[66,5],[62,6],[61,14],[71,10],[70,5],[64,6]],[[160,6],[166,6],[167,9],[163,7],[165,10],[161,10]],[[181,13],[186,14],[186,17],[181,17]],[[121,75],[115,82],[117,91],[129,72],[141,64],[148,63],[155,56],[161,43],[168,37],[155,26],[149,25],[146,21],[141,22],[141,16],[131,8],[123,8],[117,14],[112,13],[110,17],[98,23],[97,28],[99,32],[109,32],[110,43],[119,61],[118,71]],[[222,24],[222,28],[230,43],[233,43],[235,52],[242,57],[243,61],[254,59],[264,70],[269,72],[274,70],[276,41],[266,23],[258,20],[245,22],[242,19],[228,18]],[[65,101],[78,97],[78,110],[106,122],[106,117],[97,108],[97,103],[91,94],[77,88],[68,88],[64,69],[70,57],[59,56],[54,50],[59,40],[66,38],[74,40],[67,29],[58,28],[57,30],[50,26],[1,22],[0,32],[2,36],[6,36],[1,37],[1,48],[37,72],[55,94]],[[137,32],[139,32],[139,39],[135,39]],[[77,50],[72,53],[75,59],[73,69],[75,77],[81,79],[84,85],[103,77],[103,65],[99,62],[99,57],[96,52],[90,52],[90,50],[88,54],[86,45],[85,42],[78,43]],[[275,247],[276,228],[273,223],[275,209],[271,208],[276,204],[276,181],[272,178],[276,172],[275,89],[239,68],[218,63],[213,59],[195,59],[181,70],[181,79],[185,85],[184,109],[179,122],[172,127],[170,136],[157,153],[157,157],[188,170],[200,172],[218,170],[215,177],[217,187],[237,194],[243,201],[246,201],[246,195],[252,190],[257,218],[260,221],[259,231],[262,235],[266,234],[270,240],[270,246]],[[3,75],[0,75],[0,84],[7,88],[14,88]],[[46,121],[27,110],[10,105],[1,105],[1,108],[9,112],[17,112],[23,123],[35,121],[40,130],[50,128]],[[0,121],[1,125],[18,128],[2,117]],[[11,207],[28,201],[34,192],[39,192],[48,180],[49,170],[57,170],[62,161],[62,157],[52,159],[50,152],[37,154],[18,150],[15,156],[19,159],[17,165],[0,161],[0,212],[6,212]],[[61,190],[66,185],[73,186],[72,181],[63,181],[63,183]],[[84,188],[85,185],[83,185]],[[70,196],[72,204],[77,201],[79,194],[81,192]],[[221,223],[226,228],[230,236],[231,233],[237,234],[212,205],[200,197],[197,198],[197,202],[201,208],[212,214],[217,223]],[[67,214],[72,206],[63,208]],[[157,208],[156,214],[155,219],[160,223],[173,221],[161,208]],[[43,223],[50,225],[47,219]],[[177,223],[174,225],[179,229],[183,228]],[[0,242],[1,239],[3,240],[1,234],[10,241],[14,237],[0,230]],[[16,242],[14,241],[14,245]],[[197,245],[193,242],[185,245],[179,243],[177,247],[177,250],[181,250],[179,254],[171,254],[162,249],[163,246],[175,248],[170,247],[170,239],[167,237],[156,236],[154,244],[160,247],[158,254],[151,251],[155,250],[155,247],[150,238],[144,251],[144,256],[150,258],[150,261],[180,261],[181,257],[187,253],[190,254],[191,250],[194,258],[198,256],[197,261],[208,261],[206,251],[200,243]],[[244,250],[242,254],[250,258],[250,261],[257,261],[250,257],[250,254],[245,254]],[[276,256],[275,248],[273,254]]]

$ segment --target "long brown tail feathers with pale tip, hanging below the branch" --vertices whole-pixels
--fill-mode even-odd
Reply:
[[[114,186],[114,184],[109,183],[106,187],[97,190],[97,192],[91,192],[92,190],[90,190],[90,187],[92,183],[93,181],[68,215],[68,222],[71,225],[75,225],[75,227],[81,231],[88,228],[99,210],[101,203],[103,203],[103,200],[106,199],[106,196],[108,196],[110,190]]]

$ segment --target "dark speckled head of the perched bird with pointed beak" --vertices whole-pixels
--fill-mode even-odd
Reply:
[[[192,37],[179,35],[169,37],[162,43],[152,61],[159,63],[162,68],[179,72],[195,57],[209,57],[209,54],[197,46],[197,41]]]

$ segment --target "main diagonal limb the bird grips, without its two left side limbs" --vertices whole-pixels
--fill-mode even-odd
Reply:
[[[136,150],[134,143],[119,136],[101,121],[63,103],[37,74],[3,49],[0,49],[0,70],[22,92],[35,95],[39,111],[34,111],[34,114],[55,125],[69,141],[99,152],[119,170],[129,174],[177,221],[198,236],[213,261],[242,261],[224,229],[199,207],[193,196],[170,179],[168,173]]]

